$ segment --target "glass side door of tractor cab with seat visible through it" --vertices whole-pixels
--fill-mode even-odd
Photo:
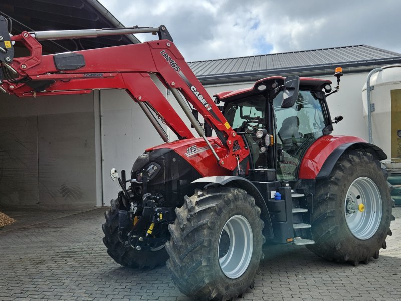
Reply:
[[[278,148],[278,180],[296,179],[297,167],[309,148],[327,126],[322,100],[311,91],[299,91],[291,108],[281,108],[282,93],[273,101]]]

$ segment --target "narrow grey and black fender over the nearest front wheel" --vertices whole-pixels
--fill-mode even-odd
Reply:
[[[209,185],[221,185],[221,186],[230,186],[237,187],[245,190],[255,199],[255,204],[261,209],[261,218],[265,222],[265,227],[263,228],[263,235],[266,239],[273,239],[273,228],[272,221],[270,219],[269,210],[267,209],[267,205],[265,200],[263,199],[259,190],[255,187],[255,185],[249,181],[248,179],[236,176],[213,176],[213,177],[204,177],[199,178],[192,183],[205,183],[205,186]]]

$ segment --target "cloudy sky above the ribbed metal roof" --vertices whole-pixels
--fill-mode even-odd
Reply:
[[[186,61],[359,44],[401,53],[399,0],[100,2],[127,27],[166,25]]]

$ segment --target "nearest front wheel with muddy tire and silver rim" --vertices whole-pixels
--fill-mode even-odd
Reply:
[[[263,255],[264,223],[252,196],[230,187],[197,190],[175,213],[166,243],[167,267],[181,292],[220,301],[253,286]]]

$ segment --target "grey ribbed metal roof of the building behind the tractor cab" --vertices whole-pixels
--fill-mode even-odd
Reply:
[[[255,81],[272,75],[319,75],[341,66],[364,71],[372,66],[401,63],[401,54],[368,45],[334,47],[248,57],[189,62],[203,84]]]

